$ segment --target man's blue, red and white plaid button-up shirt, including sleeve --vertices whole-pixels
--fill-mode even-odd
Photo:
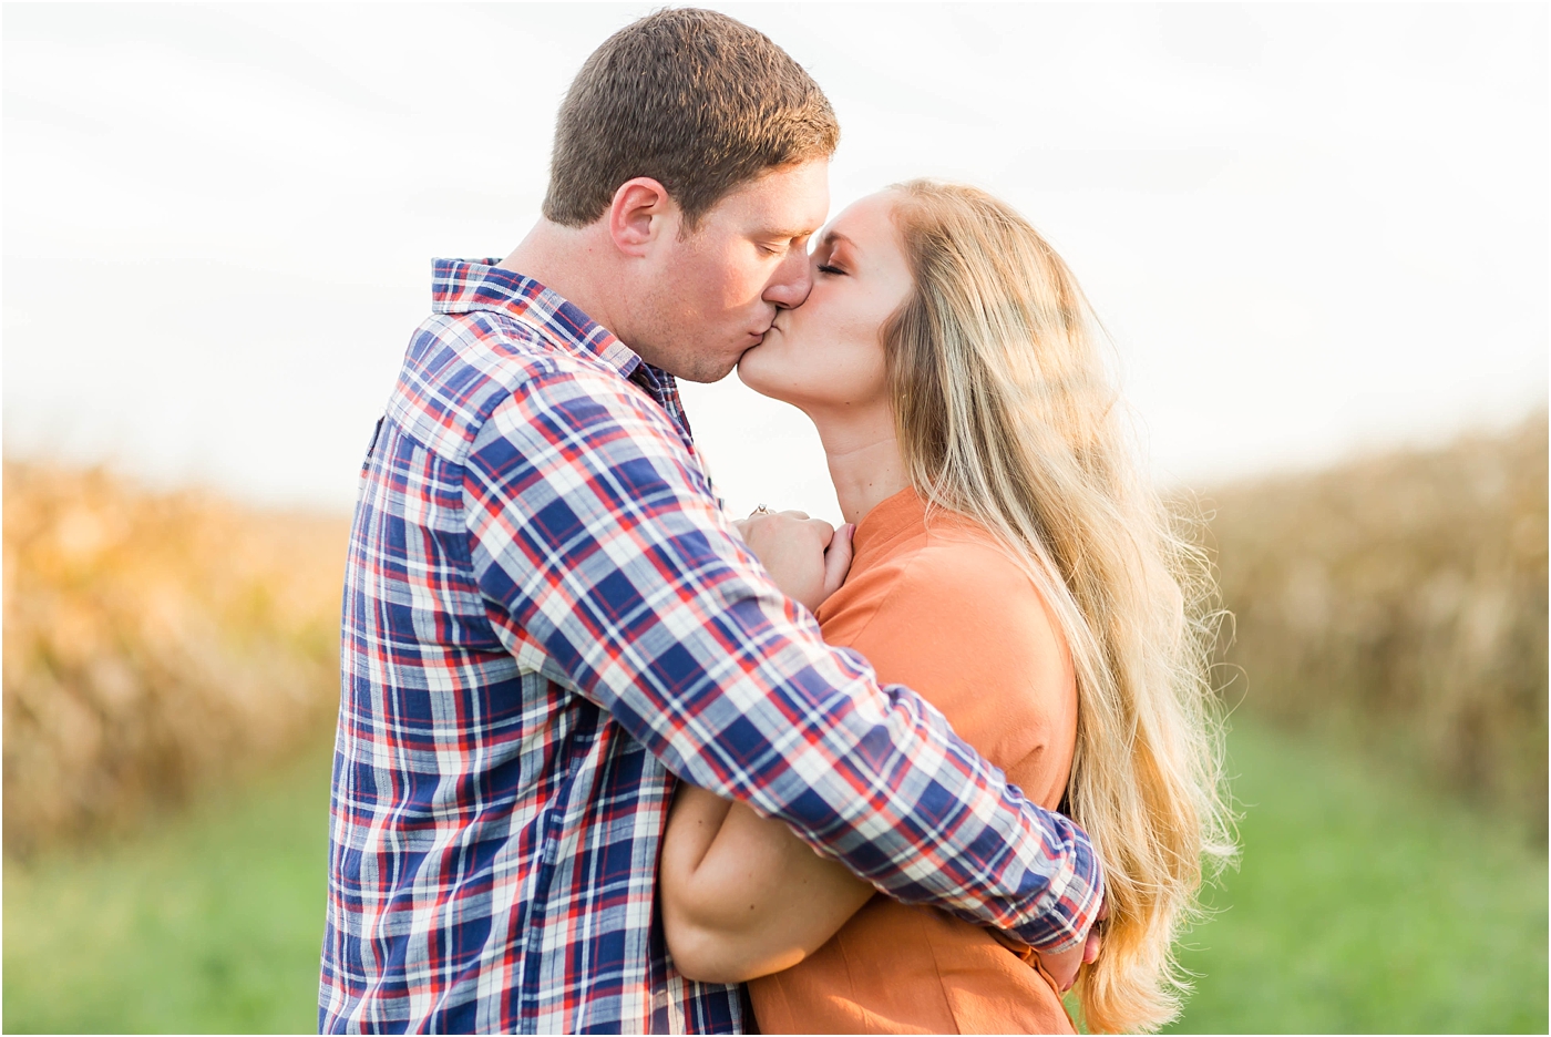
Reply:
[[[320,1028],[743,1029],[653,910],[675,773],[898,899],[1073,946],[1086,837],[825,646],[672,377],[493,264],[437,260],[361,473]]]

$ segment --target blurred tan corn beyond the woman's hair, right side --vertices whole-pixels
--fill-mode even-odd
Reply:
[[[1546,825],[1546,415],[1211,494],[1244,708]]]

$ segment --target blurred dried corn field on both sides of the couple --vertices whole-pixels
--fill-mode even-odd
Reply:
[[[1546,815],[1546,420],[1222,488],[1228,696]],[[343,518],[5,467],[5,849],[326,736]]]

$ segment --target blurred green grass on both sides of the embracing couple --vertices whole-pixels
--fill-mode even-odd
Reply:
[[[1546,856],[1382,770],[1239,724],[1244,862],[1176,1032],[1545,1032]],[[5,871],[9,1032],[312,1031],[327,760],[92,857]]]

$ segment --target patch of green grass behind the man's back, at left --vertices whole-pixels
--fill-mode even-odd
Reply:
[[[316,1032],[329,755],[88,856],[5,862],[6,1032]]]

